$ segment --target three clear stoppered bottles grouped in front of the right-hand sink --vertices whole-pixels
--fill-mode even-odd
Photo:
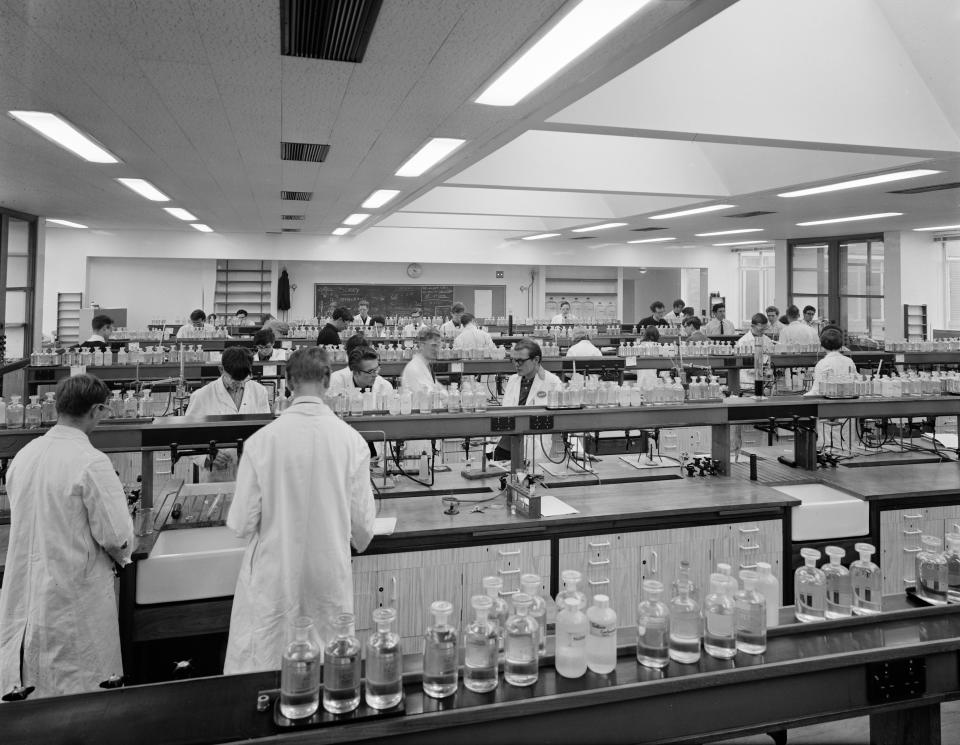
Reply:
[[[936,539],[935,539],[936,540]],[[869,543],[854,546],[860,558],[843,566],[846,551],[840,546],[827,546],[829,561],[817,568],[820,552],[802,548],[804,565],[794,575],[795,615],[798,621],[866,616],[881,610],[882,575],[872,560],[875,549]]]

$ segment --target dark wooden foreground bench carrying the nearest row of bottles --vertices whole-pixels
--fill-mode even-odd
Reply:
[[[884,599],[879,616],[787,623],[762,656],[705,654],[663,670],[639,665],[629,621],[621,620],[614,672],[567,679],[553,666],[552,639],[539,679],[490,693],[425,696],[419,660],[404,665],[402,711],[324,717],[326,726],[281,729],[271,708],[278,671],[27,700],[0,706],[5,745],[204,745],[377,742],[700,743],[869,716],[876,745],[938,745],[940,704],[960,697],[960,607],[914,607]],[[789,620],[785,609],[783,619]],[[626,628],[624,628],[626,627]]]

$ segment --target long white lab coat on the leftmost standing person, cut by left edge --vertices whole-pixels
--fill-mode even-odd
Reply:
[[[13,459],[7,489],[0,692],[96,691],[123,674],[113,562],[130,563],[134,536],[120,479],[83,432],[57,425]]]

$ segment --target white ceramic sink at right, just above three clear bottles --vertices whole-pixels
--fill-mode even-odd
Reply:
[[[822,541],[870,532],[870,507],[862,499],[826,484],[772,488],[803,502],[792,510],[794,541]]]

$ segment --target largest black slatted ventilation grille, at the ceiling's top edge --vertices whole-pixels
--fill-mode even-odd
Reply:
[[[382,0],[280,0],[280,54],[363,62]]]

